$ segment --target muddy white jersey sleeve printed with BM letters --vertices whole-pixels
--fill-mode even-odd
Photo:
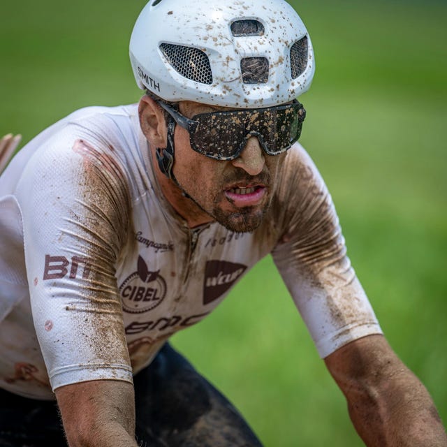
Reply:
[[[130,220],[112,148],[65,129],[17,185],[31,309],[52,389],[132,381],[115,268]]]

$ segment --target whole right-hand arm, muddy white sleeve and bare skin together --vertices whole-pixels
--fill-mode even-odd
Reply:
[[[274,261],[356,430],[371,447],[446,447],[430,395],[381,335],[323,179],[305,152],[295,161]]]

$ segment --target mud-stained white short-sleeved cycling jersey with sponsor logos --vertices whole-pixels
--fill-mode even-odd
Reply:
[[[156,182],[137,105],[82,109],[31,140],[0,177],[0,387],[53,399],[69,383],[131,382],[268,254],[322,357],[380,333],[300,145],[277,177],[253,233],[189,229]]]

